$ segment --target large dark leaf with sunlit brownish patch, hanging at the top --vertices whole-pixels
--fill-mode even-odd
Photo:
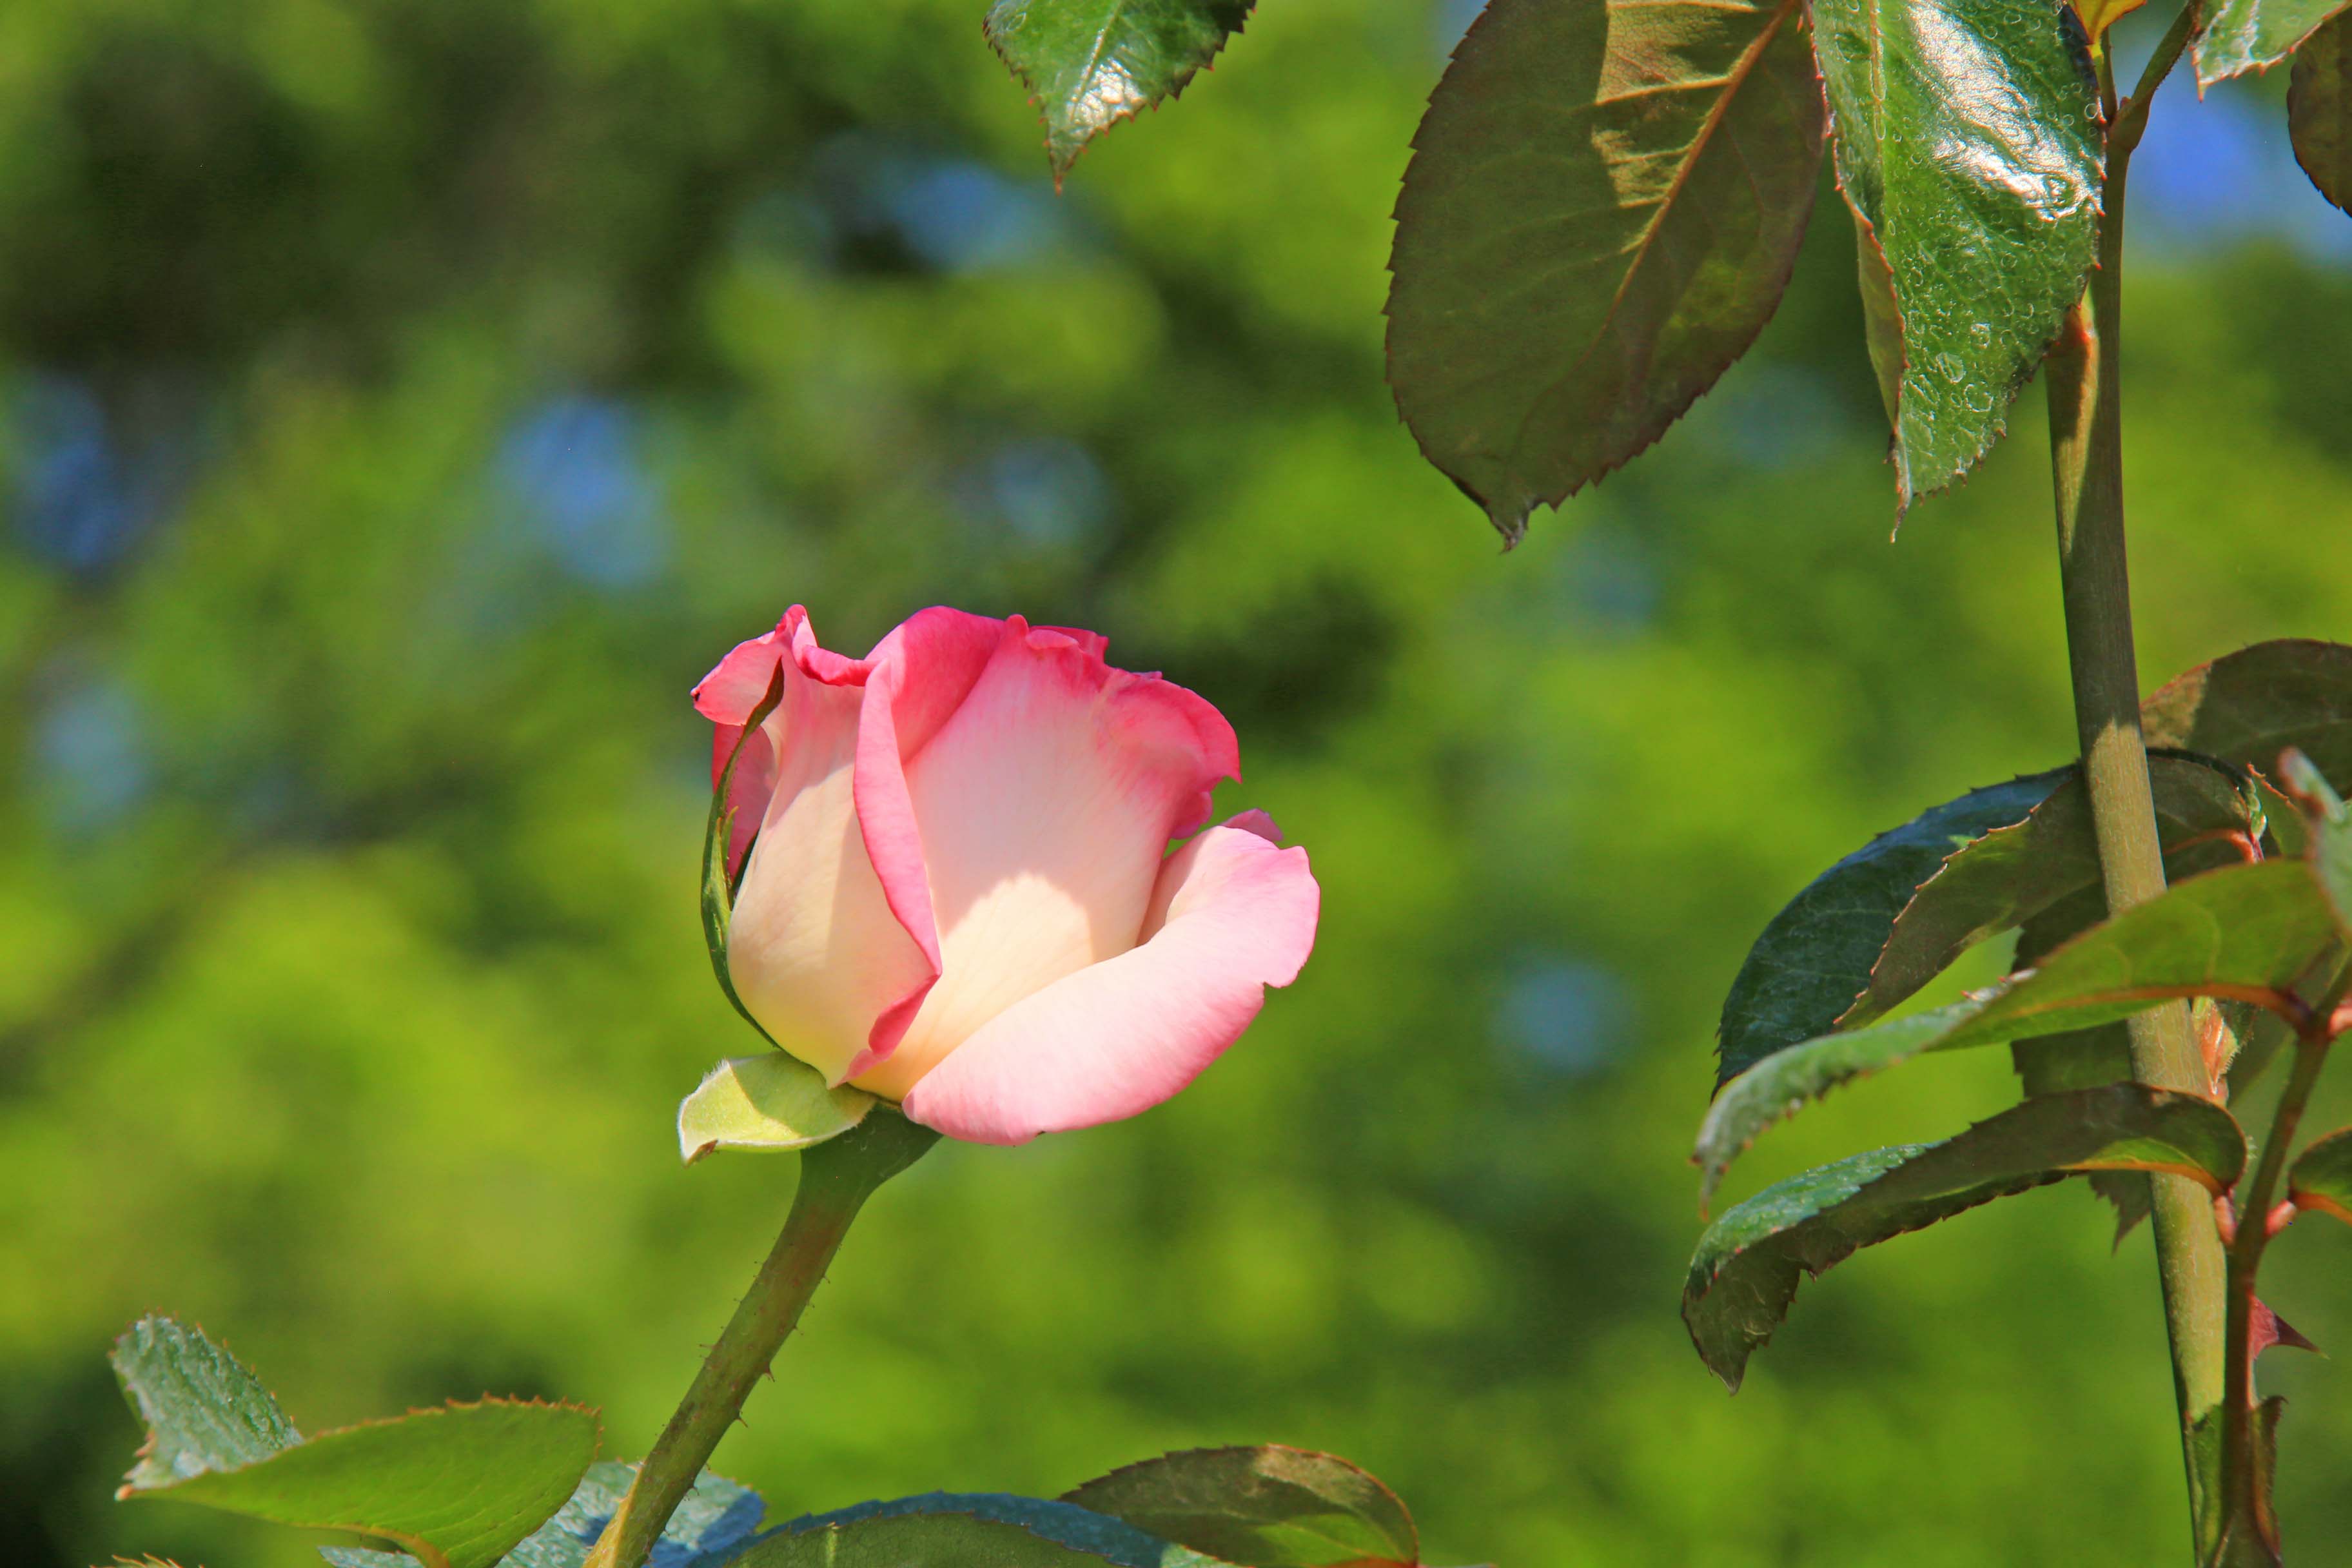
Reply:
[[[1505,543],[1649,447],[1780,303],[1820,167],[1799,0],[1491,0],[1414,136],[1388,376]]]

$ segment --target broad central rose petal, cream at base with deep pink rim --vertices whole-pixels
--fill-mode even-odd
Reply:
[[[870,693],[891,677],[882,663]],[[891,1098],[1007,1006],[1134,947],[1167,842],[1237,771],[1209,703],[1108,668],[1098,637],[1021,618],[953,717],[903,755],[906,813],[868,790],[863,752],[858,813],[887,886],[901,856],[927,872],[941,980],[906,1037],[854,1072]]]

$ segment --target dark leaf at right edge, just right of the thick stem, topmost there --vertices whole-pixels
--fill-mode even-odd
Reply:
[[[2178,745],[2274,773],[2288,745],[2328,778],[2352,778],[2352,646],[2258,642],[2166,682],[2140,705],[2150,745]]]

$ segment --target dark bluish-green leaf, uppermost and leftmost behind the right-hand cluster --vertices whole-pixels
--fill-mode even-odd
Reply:
[[[2070,769],[1971,790],[1882,832],[1780,910],[1731,980],[1715,1081],[1773,1051],[1828,1034],[1870,985],[1896,917],[1945,858],[2049,799]]]

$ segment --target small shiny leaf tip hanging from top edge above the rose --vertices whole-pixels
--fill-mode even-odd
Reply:
[[[983,28],[1044,115],[1061,183],[1089,141],[1183,92],[1247,19],[1249,0],[997,0]]]

